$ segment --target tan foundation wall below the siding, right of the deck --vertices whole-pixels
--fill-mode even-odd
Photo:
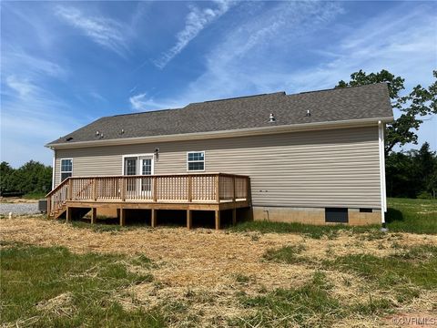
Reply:
[[[316,225],[339,224],[325,222],[325,208],[253,207],[252,211],[253,220],[299,222]],[[348,224],[353,226],[381,224],[381,210],[361,212],[360,209],[348,209],[348,219]]]

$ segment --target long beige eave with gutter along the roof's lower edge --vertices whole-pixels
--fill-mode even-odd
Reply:
[[[332,128],[357,128],[378,125],[378,122],[390,123],[393,121],[393,117],[387,118],[360,118],[349,119],[332,122],[312,122],[302,123],[284,126],[272,126],[262,128],[239,128],[233,130],[220,130],[220,131],[208,131],[208,132],[196,132],[196,133],[183,133],[164,136],[147,136],[136,138],[115,138],[107,140],[90,140],[90,141],[76,141],[76,142],[63,142],[56,144],[46,144],[49,149],[77,149],[87,147],[100,147],[100,146],[120,146],[120,145],[133,145],[151,142],[168,142],[168,141],[183,141],[183,140],[196,140],[196,139],[208,139],[208,138],[234,138],[256,135],[268,135],[287,132],[300,132],[310,130],[332,129]]]

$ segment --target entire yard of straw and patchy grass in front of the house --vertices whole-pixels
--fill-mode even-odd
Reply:
[[[93,325],[90,316],[108,326],[174,327],[437,320],[436,235],[338,231],[314,239],[166,227],[102,232],[37,217],[0,223],[4,326]],[[28,301],[28,289],[40,287],[25,311],[14,311],[20,292]]]

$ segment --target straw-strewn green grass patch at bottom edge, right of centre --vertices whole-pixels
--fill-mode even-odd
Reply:
[[[323,272],[315,272],[310,282],[295,289],[277,289],[265,295],[239,296],[243,307],[255,310],[253,315],[229,325],[241,327],[329,327],[352,314],[391,313],[393,304],[386,299],[341,304],[330,294],[332,286]]]

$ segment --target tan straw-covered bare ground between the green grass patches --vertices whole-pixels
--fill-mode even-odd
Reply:
[[[234,295],[239,289],[244,289],[249,295],[256,295],[259,291],[272,291],[279,287],[296,288],[308,282],[317,270],[315,266],[264,261],[263,255],[269,249],[303,245],[301,256],[321,261],[353,253],[387,256],[402,246],[412,247],[423,243],[437,245],[435,235],[388,233],[379,239],[372,240],[369,237],[340,232],[332,240],[317,240],[291,233],[230,233],[207,229],[188,231],[186,228],[152,230],[146,227],[96,232],[54,220],[0,220],[2,241],[20,241],[41,246],[59,245],[77,253],[94,251],[123,253],[128,256],[145,254],[157,264],[152,272],[154,282],[129,287],[114,297],[129,309],[137,306],[153,307],[168,300],[183,301],[188,293],[195,294],[201,301],[196,302],[190,311],[201,312],[205,325],[217,315],[241,317],[248,313],[249,310],[236,304]],[[130,270],[139,269],[132,267]],[[325,273],[334,284],[333,292],[345,302],[369,297],[369,291],[363,288],[365,283],[358,276],[341,272]],[[249,281],[238,282],[239,275],[249,277]],[[348,288],[341,283],[344,280],[351,282]],[[414,304],[404,309],[405,313],[427,313],[427,300],[435,297],[436,292],[422,293]],[[362,318],[359,323],[360,326],[374,326],[373,320]],[[346,318],[338,326],[351,326],[352,323],[357,323],[356,318]],[[386,324],[390,325],[390,321]]]

